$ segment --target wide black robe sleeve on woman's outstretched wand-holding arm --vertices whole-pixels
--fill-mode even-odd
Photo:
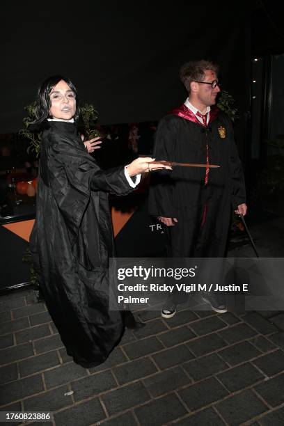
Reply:
[[[49,185],[64,217],[70,242],[77,237],[91,191],[126,195],[133,190],[125,177],[124,168],[102,171],[81,146],[58,135],[49,138],[47,161]]]

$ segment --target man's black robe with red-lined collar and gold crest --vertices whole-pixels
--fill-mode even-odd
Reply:
[[[171,111],[157,128],[153,157],[206,164],[207,144],[210,164],[220,166],[210,168],[207,185],[205,168],[175,167],[151,177],[150,214],[178,219],[167,228],[174,258],[224,257],[231,209],[245,203],[232,124],[218,108],[211,109],[207,127],[184,104]]]

